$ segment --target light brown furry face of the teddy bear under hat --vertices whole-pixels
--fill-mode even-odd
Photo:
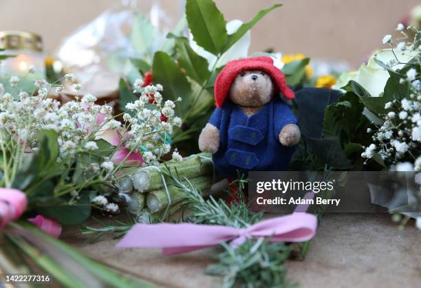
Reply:
[[[242,107],[260,107],[274,96],[270,76],[260,70],[243,71],[237,75],[230,88],[230,99]]]

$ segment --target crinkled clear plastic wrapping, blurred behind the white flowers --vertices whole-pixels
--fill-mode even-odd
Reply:
[[[131,59],[150,62],[153,53],[164,45],[171,25],[159,1],[150,2],[151,10],[138,12],[136,0],[122,1],[79,27],[58,47],[56,57],[65,73],[76,76],[82,93],[108,97],[118,90],[120,77],[131,81],[141,77]],[[66,90],[76,93],[72,87]]]

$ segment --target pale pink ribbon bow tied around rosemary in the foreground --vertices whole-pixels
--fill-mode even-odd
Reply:
[[[246,239],[266,237],[272,242],[303,242],[316,234],[313,214],[293,213],[263,220],[248,228],[193,223],[136,224],[117,244],[119,248],[162,248],[164,255],[179,254],[232,241],[237,247]]]

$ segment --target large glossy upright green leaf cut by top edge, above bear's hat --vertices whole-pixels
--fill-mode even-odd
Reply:
[[[221,54],[227,39],[226,21],[212,0],[187,0],[188,28],[197,45],[212,54]]]

